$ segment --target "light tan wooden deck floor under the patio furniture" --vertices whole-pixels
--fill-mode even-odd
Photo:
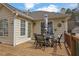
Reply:
[[[67,56],[67,51],[63,43],[61,48],[57,47],[46,47],[43,49],[35,49],[33,41],[29,41],[16,47],[0,44],[0,56]]]

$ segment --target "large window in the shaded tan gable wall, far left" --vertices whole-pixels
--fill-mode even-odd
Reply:
[[[0,20],[0,36],[8,36],[8,20]]]

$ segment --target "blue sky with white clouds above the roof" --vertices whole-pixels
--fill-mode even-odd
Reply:
[[[60,12],[61,8],[74,9],[77,3],[10,3],[20,10]]]

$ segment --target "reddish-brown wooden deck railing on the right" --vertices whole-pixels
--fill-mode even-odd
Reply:
[[[69,55],[76,56],[77,52],[77,43],[79,42],[79,38],[75,35],[71,35],[68,33],[64,33],[65,46]],[[79,46],[79,45],[78,45]]]

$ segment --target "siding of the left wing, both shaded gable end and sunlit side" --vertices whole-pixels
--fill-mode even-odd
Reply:
[[[1,4],[0,4],[1,5]],[[26,42],[33,35],[32,22],[26,18],[15,16],[8,8],[0,7],[0,20],[8,20],[8,36],[0,36],[0,42],[11,44],[13,46]],[[20,35],[21,20],[26,20],[26,35]],[[31,23],[31,36],[28,37],[28,23]]]

